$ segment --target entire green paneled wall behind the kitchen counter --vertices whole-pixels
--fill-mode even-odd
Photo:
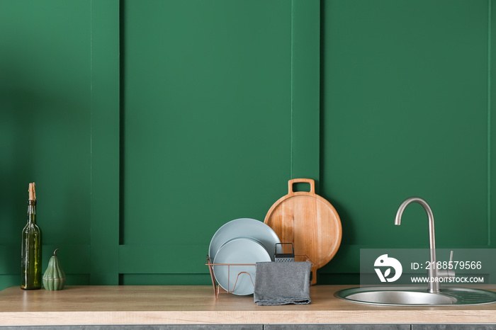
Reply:
[[[492,1],[0,2],[0,289],[28,182],[74,284],[209,284],[210,237],[290,178],[359,249],[494,248]]]

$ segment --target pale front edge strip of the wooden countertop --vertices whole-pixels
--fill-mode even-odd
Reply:
[[[423,320],[423,322],[419,322]],[[94,324],[496,324],[494,310],[0,312],[1,326]]]

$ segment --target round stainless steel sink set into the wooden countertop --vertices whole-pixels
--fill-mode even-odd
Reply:
[[[392,306],[484,305],[496,302],[496,292],[471,288],[441,288],[431,293],[425,287],[362,287],[340,290],[336,297],[351,302]]]

